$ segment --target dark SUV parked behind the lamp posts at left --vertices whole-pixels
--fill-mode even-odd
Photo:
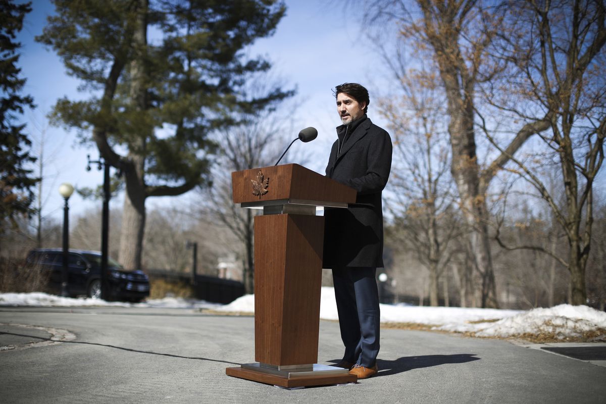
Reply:
[[[48,289],[61,293],[63,251],[59,248],[41,248],[27,254],[27,265],[48,271]],[[108,257],[107,283],[110,299],[140,302],[150,294],[150,283],[143,271],[127,271]],[[67,270],[67,293],[101,297],[101,253],[99,251],[70,250]]]

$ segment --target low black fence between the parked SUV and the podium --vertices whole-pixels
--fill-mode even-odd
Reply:
[[[190,285],[196,299],[213,303],[231,303],[244,296],[244,283],[237,280],[221,279],[213,276],[178,273],[165,270],[145,271],[150,280],[162,279],[166,282],[180,282]]]

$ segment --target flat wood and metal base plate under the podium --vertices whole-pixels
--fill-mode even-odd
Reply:
[[[356,382],[358,378],[347,369],[314,363],[309,368],[275,369],[259,363],[245,363],[239,368],[225,369],[227,376],[286,388],[335,385]]]

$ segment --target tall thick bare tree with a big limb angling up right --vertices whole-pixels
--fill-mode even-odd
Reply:
[[[370,3],[370,2],[369,2]],[[503,152],[481,165],[477,154],[476,101],[479,88],[490,84],[506,64],[494,58],[490,45],[503,30],[504,10],[479,0],[384,0],[372,2],[367,21],[396,21],[401,39],[414,58],[429,57],[446,99],[450,171],[459,193],[459,205],[470,228],[473,265],[482,276],[482,306],[498,306],[493,259],[488,234],[487,191],[491,180],[516,150],[533,134],[547,130],[550,116],[533,118],[510,137]]]

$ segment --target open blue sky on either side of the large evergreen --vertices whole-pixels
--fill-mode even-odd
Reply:
[[[318,128],[319,136],[307,147],[313,156],[307,167],[323,173],[328,160],[330,145],[335,139],[335,127],[339,125],[335,100],[331,89],[343,82],[367,84],[373,99],[373,81],[378,70],[378,56],[369,48],[369,42],[359,29],[357,15],[351,8],[345,12],[341,1],[286,1],[287,15],[278,25],[274,36],[257,41],[248,50],[251,56],[266,55],[273,62],[276,76],[284,79],[287,87],[296,86],[298,96],[294,103],[291,125],[295,128]],[[39,141],[44,133],[44,182],[42,190],[42,213],[45,217],[60,219],[62,198],[58,187],[62,182],[71,182],[77,187],[96,187],[101,184],[102,174],[93,168],[85,171],[86,156],[98,157],[92,145],[78,143],[74,133],[64,128],[50,127],[45,114],[50,112],[57,99],[87,98],[79,93],[79,82],[65,74],[61,60],[34,38],[42,32],[46,18],[54,12],[48,0],[34,0],[33,11],[25,18],[24,28],[18,36],[22,43],[19,65],[22,76],[27,78],[24,93],[31,94],[37,108],[27,111],[24,121],[32,134],[33,151],[39,154]],[[347,18],[346,18],[347,16]],[[378,122],[378,116],[369,116]],[[172,201],[172,202],[171,202]],[[147,207],[173,203],[175,198],[148,199]],[[88,208],[100,206],[101,202],[82,200],[77,194],[70,199],[72,214],[81,214]],[[121,209],[122,199],[112,201],[112,209]]]

